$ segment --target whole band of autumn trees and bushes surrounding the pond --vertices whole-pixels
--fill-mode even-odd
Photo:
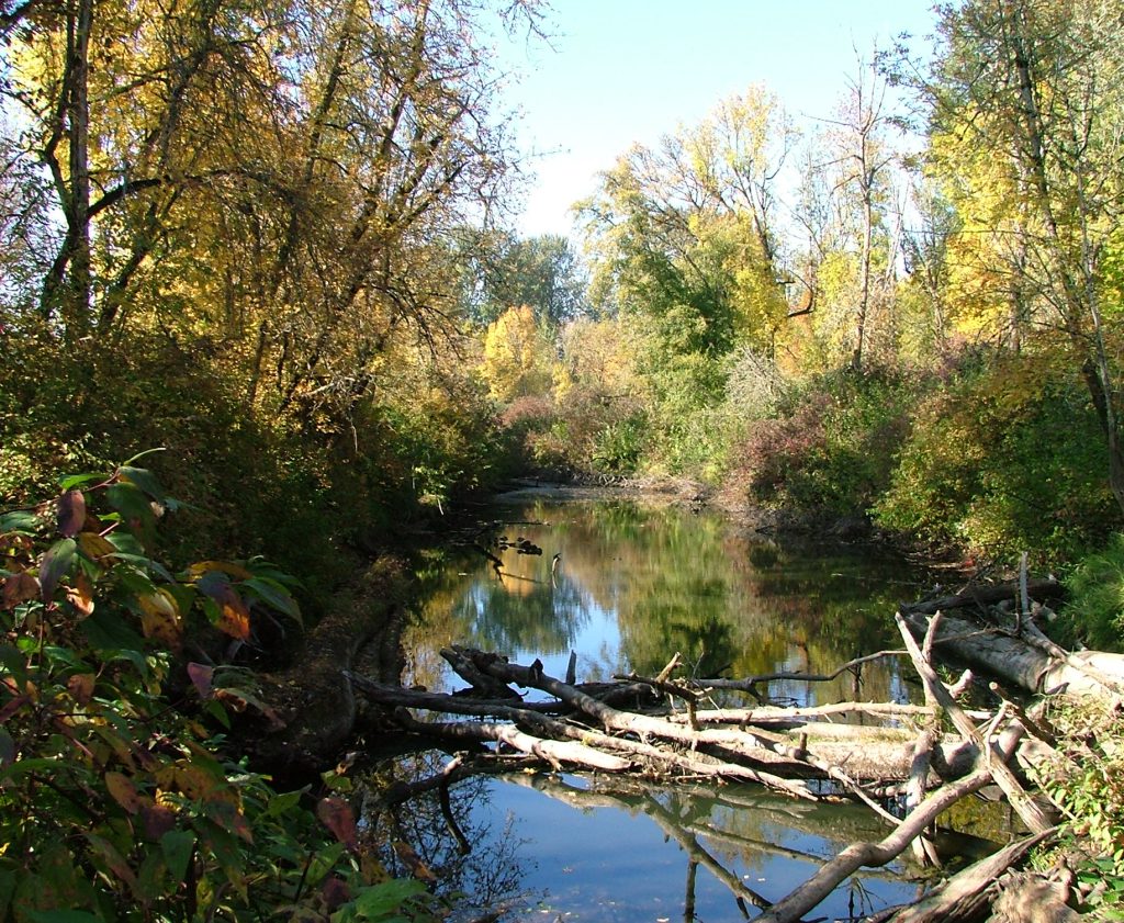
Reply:
[[[0,10],[3,508],[161,447],[145,552],[261,555],[315,619],[515,476],[682,478],[1115,569],[1069,632],[1118,646],[1124,4],[942,7],[813,125],[716,100],[605,165],[580,245],[505,223],[486,37],[533,3]]]

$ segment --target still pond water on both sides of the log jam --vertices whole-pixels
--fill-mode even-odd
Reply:
[[[454,643],[518,663],[538,658],[560,678],[574,651],[579,681],[652,676],[677,652],[700,678],[832,672],[896,646],[897,604],[932,579],[885,553],[786,548],[718,516],[633,500],[526,498],[493,515],[495,530],[477,548],[435,559],[407,630],[404,685],[462,688],[438,655]],[[502,562],[499,571],[486,552]],[[769,694],[799,705],[915,700],[906,676],[891,658],[831,682],[776,680]],[[382,766],[380,780],[420,778],[447,759],[408,754]],[[401,844],[392,862],[422,862],[464,895],[463,920],[484,908],[550,923],[751,919],[839,850],[887,832],[865,808],[701,780],[477,777],[452,788],[451,806],[464,841],[436,795],[372,823],[389,824],[387,835]],[[954,850],[972,851],[970,838],[958,836]],[[904,862],[864,870],[816,915],[849,919],[914,899],[916,874]]]

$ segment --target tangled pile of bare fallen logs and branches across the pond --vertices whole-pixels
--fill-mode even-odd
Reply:
[[[992,597],[989,605],[1003,598]],[[1091,663],[1089,658],[1075,658],[1045,642],[1033,624],[1028,600],[1024,591],[1025,613],[1019,614],[1025,617],[1016,619],[1014,627],[968,623],[943,614],[978,607],[979,594],[903,608],[897,624],[904,650],[879,657],[908,658],[924,685],[925,705],[851,702],[818,708],[729,707],[728,702],[714,700],[716,690],[722,690],[724,699],[734,689],[760,697],[759,687],[772,677],[736,682],[683,679],[676,676],[678,654],[654,677],[629,675],[615,684],[580,685],[572,669],[562,680],[544,673],[538,661],[520,666],[495,653],[450,648],[442,657],[468,684],[453,695],[388,686],[353,672],[345,676],[402,729],[451,741],[453,749],[474,753],[478,762],[495,766],[517,760],[522,767],[534,761],[555,771],[627,775],[661,782],[756,782],[800,800],[856,799],[886,823],[888,833],[881,841],[854,843],[791,894],[764,905],[758,917],[763,923],[804,919],[858,869],[886,865],[908,849],[919,861],[937,861],[926,840],[935,817],[969,794],[998,786],[1028,835],[950,879],[921,903],[881,917],[969,920],[998,899],[996,883],[1004,872],[1032,847],[1054,835],[1058,812],[1028,779],[1034,778],[1035,767],[1064,760],[1054,752],[1049,732],[1009,697],[989,712],[961,707],[954,690],[933,668],[934,651],[963,650],[973,657],[985,651],[994,657],[996,650],[1009,653],[1017,648],[1017,669],[1000,675],[1006,682],[1036,693],[1061,684],[1070,693],[1118,702],[1124,688],[1118,678],[1124,677],[1124,666],[1114,676],[1117,664]],[[991,661],[978,663],[999,672]],[[844,664],[831,676],[853,667]],[[803,673],[798,678],[814,677]],[[550,698],[525,702],[520,690],[527,689]],[[414,712],[442,718],[420,721]],[[887,723],[839,721],[855,714]],[[448,715],[475,720],[444,720]],[[464,771],[460,760],[457,773]],[[418,790],[429,785],[444,791],[453,776],[450,770],[424,780]],[[895,806],[897,812],[889,809]],[[1008,914],[1017,913],[1009,908],[1017,908],[1021,901],[1037,899],[1026,898],[1027,894],[1050,890],[1040,880],[1004,880],[997,906],[1007,906]],[[1061,914],[1063,905],[1059,907]]]

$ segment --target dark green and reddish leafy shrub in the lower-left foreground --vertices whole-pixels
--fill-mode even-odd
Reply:
[[[179,654],[192,619],[239,641],[299,621],[291,581],[261,560],[173,576],[151,549],[176,504],[132,462],[62,491],[0,517],[0,916],[430,919],[415,883],[381,884],[346,802],[274,791],[200,720],[277,720]]]

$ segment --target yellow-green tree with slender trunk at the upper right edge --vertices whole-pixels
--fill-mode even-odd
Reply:
[[[1103,301],[1122,203],[1121,13],[1118,2],[945,7],[927,78],[907,67],[898,75],[928,106],[935,166],[962,214],[992,217],[978,229],[991,244],[981,256],[1009,280],[1014,310],[1060,332],[1080,367],[1124,510],[1118,329]],[[996,202],[997,187],[1009,191],[1005,201]]]

